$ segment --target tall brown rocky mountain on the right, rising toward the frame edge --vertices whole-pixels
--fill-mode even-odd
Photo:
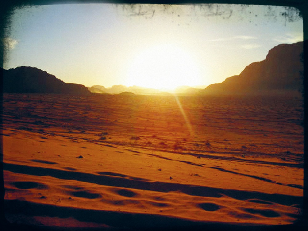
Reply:
[[[299,94],[303,88],[302,53],[303,42],[275,46],[265,60],[251,63],[241,74],[211,84],[200,94]]]

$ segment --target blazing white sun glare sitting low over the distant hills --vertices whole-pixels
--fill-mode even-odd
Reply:
[[[179,46],[152,46],[138,54],[127,73],[126,86],[174,90],[178,86],[200,85],[200,70]]]

